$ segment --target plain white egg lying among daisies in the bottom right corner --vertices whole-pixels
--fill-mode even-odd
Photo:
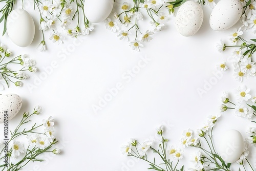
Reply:
[[[219,155],[227,163],[236,162],[243,153],[243,136],[237,130],[229,130],[223,133],[218,143]]]

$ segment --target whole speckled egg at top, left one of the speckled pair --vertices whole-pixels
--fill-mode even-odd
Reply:
[[[177,12],[175,26],[183,36],[191,36],[198,32],[203,23],[202,7],[195,1],[182,4]]]

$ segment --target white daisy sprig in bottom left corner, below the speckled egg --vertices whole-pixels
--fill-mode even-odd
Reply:
[[[33,124],[30,129],[20,129],[20,127],[27,125],[27,123],[31,121],[29,120],[31,116],[39,115],[41,111],[41,107],[36,106],[32,114],[25,112],[20,123],[17,125],[15,130],[11,132],[11,137],[8,141],[8,151],[6,151],[7,148],[5,144],[2,152],[4,152],[5,149],[6,155],[0,158],[0,160],[3,159],[6,161],[7,157],[9,161],[6,164],[0,165],[0,167],[4,167],[3,170],[6,169],[16,171],[22,169],[30,161],[42,162],[44,159],[37,159],[37,156],[42,153],[51,152],[56,155],[60,154],[61,150],[59,148],[51,149],[54,144],[58,142],[58,140],[52,135],[54,125],[54,120],[52,117],[49,117],[48,120],[43,120],[43,124]],[[44,126],[44,129],[46,130],[45,133],[38,130],[42,126]],[[27,137],[28,143],[23,143],[19,140],[22,135]],[[28,145],[27,148],[25,148],[25,145]]]

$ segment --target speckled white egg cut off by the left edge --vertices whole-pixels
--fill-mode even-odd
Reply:
[[[8,119],[14,118],[22,108],[22,98],[16,94],[0,95],[0,123],[4,122],[4,112],[7,111]]]

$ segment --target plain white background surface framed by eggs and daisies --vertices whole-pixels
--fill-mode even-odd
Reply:
[[[38,11],[25,9],[38,28]],[[219,53],[216,44],[220,38],[228,40],[231,29],[211,30],[208,24],[211,9],[204,7],[203,10],[203,25],[197,34],[181,36],[174,27],[175,17],[170,17],[167,28],[155,33],[153,40],[140,52],[132,51],[128,43],[120,41],[104,23],[96,24],[95,30],[80,40],[66,35],[62,45],[47,40],[47,52],[42,53],[36,50],[41,41],[38,30],[34,41],[26,48],[14,45],[7,34],[1,37],[0,41],[14,56],[26,53],[36,60],[38,68],[38,72],[29,73],[30,78],[24,81],[22,88],[11,85],[8,89],[5,85],[2,94],[15,93],[24,101],[19,115],[10,124],[16,125],[24,111],[32,111],[35,105],[40,105],[43,112],[33,121],[39,123],[53,116],[55,136],[62,149],[61,155],[42,156],[46,159],[44,163],[29,164],[25,170],[147,170],[147,164],[122,155],[120,146],[130,138],[143,141],[155,137],[155,128],[160,124],[166,126],[164,136],[170,140],[169,144],[178,145],[184,130],[196,131],[208,115],[220,113],[223,91],[234,92],[238,86],[246,85],[252,89],[251,94],[256,93],[256,89],[253,90],[255,78],[248,77],[242,83],[234,80],[231,62],[227,63],[230,68],[227,72],[219,74],[218,78],[215,76],[216,65],[227,60],[232,52]],[[141,27],[146,30],[150,25]],[[50,32],[45,34],[48,39]],[[251,31],[247,31],[249,34]],[[138,66],[141,58],[150,61],[131,81],[123,79],[122,75]],[[216,82],[207,89],[206,82],[210,80]],[[100,98],[118,82],[123,88],[95,113],[93,104],[98,105]],[[200,96],[198,89],[205,88],[206,92]],[[236,101],[234,96],[231,99]],[[223,113],[214,134],[218,137],[236,129],[245,138],[250,124],[246,119],[235,117],[232,111]],[[157,147],[158,140],[155,142]],[[195,150],[185,149],[182,160],[185,167],[191,167],[189,153]]]

